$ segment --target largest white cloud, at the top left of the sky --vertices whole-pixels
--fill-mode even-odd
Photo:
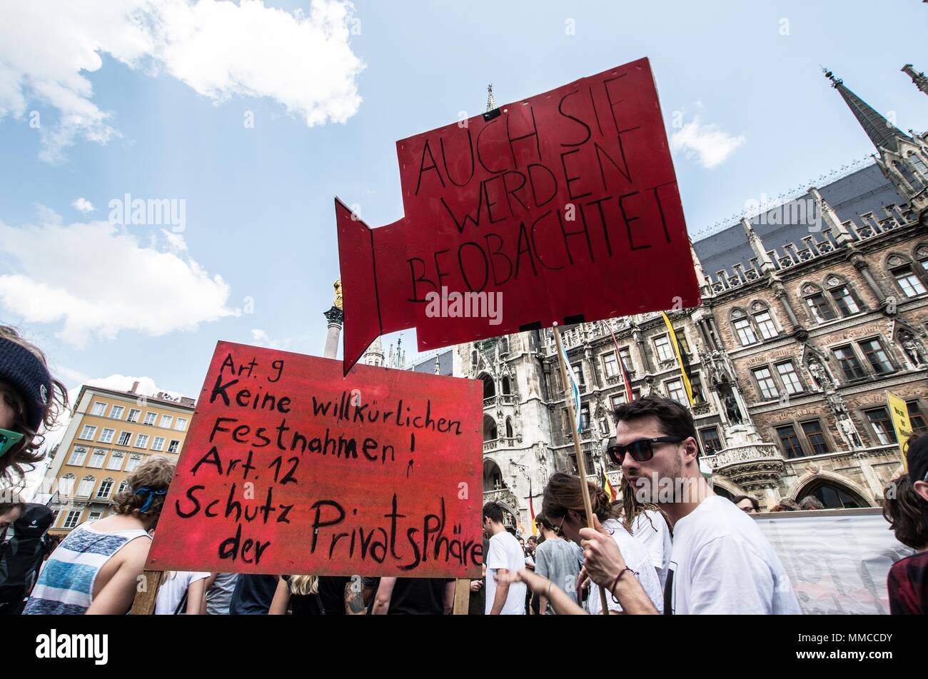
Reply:
[[[360,105],[364,69],[349,45],[353,9],[347,0],[312,0],[308,16],[261,0],[7,0],[0,118],[56,109],[58,121],[39,126],[40,156],[50,162],[78,136],[119,136],[86,77],[107,54],[152,75],[166,71],[215,102],[266,96],[310,126],[345,122]]]

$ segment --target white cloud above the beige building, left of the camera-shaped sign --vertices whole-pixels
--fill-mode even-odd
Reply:
[[[222,277],[190,259],[182,237],[172,240],[143,245],[113,224],[64,225],[47,211],[38,224],[0,221],[10,272],[0,275],[0,305],[26,323],[62,324],[56,335],[77,347],[123,330],[160,336],[238,315]]]

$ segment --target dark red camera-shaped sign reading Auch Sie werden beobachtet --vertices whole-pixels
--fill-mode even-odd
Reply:
[[[403,219],[336,199],[345,371],[407,327],[426,350],[699,303],[648,59],[396,149]]]

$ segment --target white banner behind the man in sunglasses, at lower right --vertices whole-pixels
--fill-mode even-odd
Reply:
[[[777,550],[804,613],[889,614],[886,575],[912,550],[896,540],[881,509],[753,516]]]

